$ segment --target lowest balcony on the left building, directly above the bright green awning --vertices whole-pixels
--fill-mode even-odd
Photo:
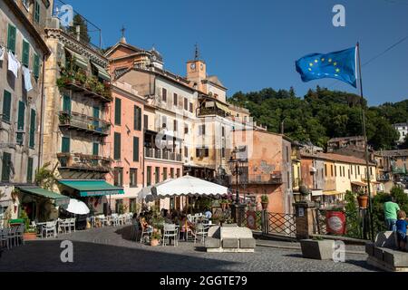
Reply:
[[[101,156],[85,155],[82,153],[58,153],[57,158],[60,162],[60,169],[101,173],[111,171],[112,160]]]

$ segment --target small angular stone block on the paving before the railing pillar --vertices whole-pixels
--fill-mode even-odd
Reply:
[[[335,251],[335,241],[304,239],[300,241],[302,255],[305,258],[316,260],[331,260]]]

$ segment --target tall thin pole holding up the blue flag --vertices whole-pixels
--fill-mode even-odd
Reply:
[[[365,127],[365,111],[364,111],[364,92],[363,92],[363,78],[361,73],[361,58],[360,58],[360,43],[357,43],[357,57],[358,57],[358,79],[360,81],[360,96],[361,96],[361,111],[363,118],[363,134],[364,134],[364,150],[365,150],[365,166],[366,166],[366,179],[367,179],[367,190],[368,190],[368,200],[369,200],[369,210],[368,215],[370,219],[370,231],[371,239],[374,240],[374,225],[373,225],[373,198],[371,194],[371,174],[370,174],[370,160],[368,153],[368,139]]]

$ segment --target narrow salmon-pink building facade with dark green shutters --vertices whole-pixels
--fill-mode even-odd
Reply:
[[[125,82],[112,83],[111,148],[112,172],[107,181],[124,189],[110,198],[112,212],[136,211],[137,195],[143,188],[144,99]]]

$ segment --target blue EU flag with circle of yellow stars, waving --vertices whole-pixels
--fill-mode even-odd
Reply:
[[[357,87],[355,47],[335,53],[311,53],[296,62],[303,82],[333,78]]]

